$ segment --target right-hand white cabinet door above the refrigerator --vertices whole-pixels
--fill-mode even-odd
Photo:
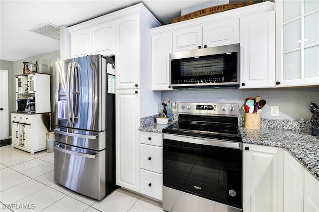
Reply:
[[[91,54],[101,54],[104,56],[114,55],[114,28],[114,21],[91,28]]]

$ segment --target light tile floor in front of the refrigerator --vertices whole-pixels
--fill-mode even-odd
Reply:
[[[162,212],[160,202],[124,189],[97,201],[54,182],[54,153],[0,147],[0,212]],[[10,205],[11,204],[11,205]]]

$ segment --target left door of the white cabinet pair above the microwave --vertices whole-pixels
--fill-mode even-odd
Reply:
[[[203,48],[203,28],[194,26],[173,31],[173,52]]]

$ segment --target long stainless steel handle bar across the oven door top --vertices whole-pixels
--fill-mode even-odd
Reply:
[[[182,141],[187,143],[202,144],[207,146],[218,146],[232,149],[243,149],[243,144],[234,141],[217,140],[210,138],[191,137],[183,135],[163,134],[163,139]]]

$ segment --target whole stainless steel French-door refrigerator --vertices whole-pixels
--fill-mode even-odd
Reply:
[[[91,55],[55,63],[54,178],[101,200],[115,188],[112,58]]]

